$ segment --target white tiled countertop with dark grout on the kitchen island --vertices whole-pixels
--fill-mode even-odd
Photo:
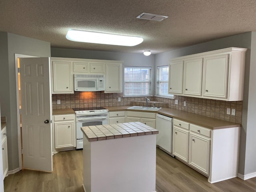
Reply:
[[[81,127],[89,142],[158,134],[158,130],[141,122]]]

